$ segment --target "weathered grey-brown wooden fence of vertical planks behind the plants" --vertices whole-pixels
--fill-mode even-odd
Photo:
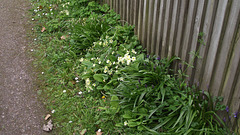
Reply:
[[[191,51],[201,59],[188,69],[191,84],[223,96],[233,112],[240,111],[239,0],[101,0],[135,25],[148,53],[176,55],[186,62]],[[198,42],[203,32],[205,46]]]

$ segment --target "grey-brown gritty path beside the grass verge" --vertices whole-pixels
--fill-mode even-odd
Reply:
[[[37,98],[27,55],[28,0],[0,2],[0,135],[43,135],[44,106]]]

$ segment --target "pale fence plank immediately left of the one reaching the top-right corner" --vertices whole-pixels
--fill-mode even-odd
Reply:
[[[218,43],[220,40],[221,30],[223,27],[223,20],[224,20],[225,11],[227,8],[227,3],[228,3],[228,0],[219,0],[212,38],[211,38],[210,47],[209,47],[209,53],[207,56],[208,64],[206,64],[204,74],[203,74],[204,80],[202,82],[202,88],[204,90],[206,90],[207,87],[210,85],[214,62],[215,62],[217,50],[219,47]]]

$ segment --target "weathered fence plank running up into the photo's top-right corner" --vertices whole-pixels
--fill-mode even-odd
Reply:
[[[235,30],[237,30],[237,16],[239,15],[240,4],[238,0],[234,0],[232,3],[230,15],[228,19],[228,24],[226,26],[226,31],[224,32],[224,37],[222,41],[221,50],[218,56],[218,62],[216,63],[215,74],[213,75],[212,83],[212,94],[214,96],[218,95],[218,91],[222,87],[222,81],[225,79],[224,73],[226,71],[226,66],[229,61],[229,53],[231,53],[232,46],[231,42],[234,37]]]

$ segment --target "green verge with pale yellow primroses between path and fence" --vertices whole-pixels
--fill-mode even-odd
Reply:
[[[38,93],[56,134],[229,133],[216,114],[225,109],[221,98],[172,74],[177,57],[146,55],[107,5],[32,0],[32,7]]]

